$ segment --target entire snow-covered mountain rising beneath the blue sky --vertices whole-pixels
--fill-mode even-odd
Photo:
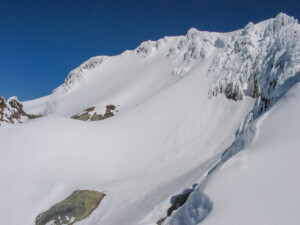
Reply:
[[[296,224],[299,79],[283,13],[93,57],[0,128],[0,224],[72,224],[42,213],[86,189],[105,197],[75,224]]]

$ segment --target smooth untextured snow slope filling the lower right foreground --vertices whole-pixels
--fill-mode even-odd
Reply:
[[[203,225],[296,225],[300,221],[300,85],[257,124],[257,136],[208,184]]]

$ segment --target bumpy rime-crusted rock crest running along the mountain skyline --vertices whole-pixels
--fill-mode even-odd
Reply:
[[[235,101],[251,96],[259,99],[262,110],[285,93],[288,88],[283,86],[285,81],[300,71],[300,26],[296,19],[284,13],[256,25],[250,22],[228,34],[191,28],[185,36],[143,42],[132,53],[147,59],[166,46],[171,75],[179,78],[220,51],[208,69],[212,78],[208,96],[225,94]],[[53,92],[68,94],[85,81],[89,71],[108,58],[97,56],[84,62]]]

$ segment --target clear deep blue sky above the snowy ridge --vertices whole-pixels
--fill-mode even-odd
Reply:
[[[191,27],[226,32],[275,17],[300,18],[300,0],[0,0],[0,96],[51,93],[70,70]]]

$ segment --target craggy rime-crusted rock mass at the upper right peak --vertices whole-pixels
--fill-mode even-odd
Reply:
[[[300,26],[280,13],[266,26],[249,23],[237,31],[209,69],[215,77],[209,96],[259,97],[265,110],[289,87],[285,81],[300,71]]]

